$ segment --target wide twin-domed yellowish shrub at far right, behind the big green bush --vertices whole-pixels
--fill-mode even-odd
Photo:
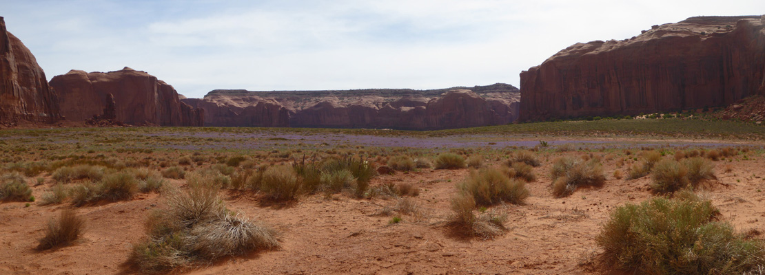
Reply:
[[[695,188],[705,180],[716,178],[714,165],[710,160],[702,157],[694,157],[682,162],[662,160],[653,168],[651,191],[665,194],[687,186]]]

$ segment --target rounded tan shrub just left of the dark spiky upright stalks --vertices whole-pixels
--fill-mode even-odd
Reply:
[[[260,189],[275,200],[290,200],[298,196],[301,186],[292,167],[269,167],[263,173]]]

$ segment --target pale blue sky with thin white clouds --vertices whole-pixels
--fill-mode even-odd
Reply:
[[[129,66],[213,89],[441,89],[504,82],[578,42],[765,1],[0,0],[48,79]]]

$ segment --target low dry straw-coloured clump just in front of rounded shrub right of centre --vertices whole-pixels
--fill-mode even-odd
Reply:
[[[461,192],[451,199],[451,211],[454,215],[449,225],[459,234],[468,236],[477,236],[490,239],[498,235],[503,235],[506,228],[507,215],[501,212],[482,212],[475,215],[474,210],[476,202],[473,196]]]

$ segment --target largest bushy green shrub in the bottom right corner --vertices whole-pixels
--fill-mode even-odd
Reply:
[[[596,241],[608,265],[630,273],[761,272],[762,242],[734,233],[732,225],[718,221],[719,215],[711,201],[684,191],[675,199],[620,206]]]

